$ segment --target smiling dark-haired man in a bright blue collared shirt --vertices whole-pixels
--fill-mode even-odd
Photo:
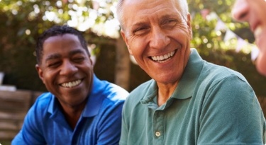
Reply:
[[[95,76],[81,33],[52,27],[38,38],[36,54],[50,92],[35,101],[12,144],[118,144],[128,92]]]

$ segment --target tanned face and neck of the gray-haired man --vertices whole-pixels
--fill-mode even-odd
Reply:
[[[127,8],[120,13],[127,17],[121,20],[126,26],[121,35],[140,68],[157,81],[158,104],[162,105],[178,85],[189,58],[190,15],[184,19],[173,1],[124,1],[123,7]],[[165,62],[150,59],[174,50]]]

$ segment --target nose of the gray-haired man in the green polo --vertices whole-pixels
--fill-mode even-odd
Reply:
[[[160,28],[154,28],[151,32],[150,47],[155,49],[162,49],[170,43],[170,37]]]

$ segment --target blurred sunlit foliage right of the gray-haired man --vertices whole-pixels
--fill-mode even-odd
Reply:
[[[188,0],[189,11],[192,14],[193,40],[192,47],[195,47],[201,57],[214,64],[227,66],[239,71],[253,86],[257,95],[266,96],[264,76],[257,73],[254,63],[250,59],[250,47],[245,46],[241,52],[235,52],[236,40],[224,42],[226,30],[216,32],[218,19],[207,20],[204,12],[215,12],[218,18],[226,24],[226,27],[236,35],[248,42],[253,43],[253,33],[248,28],[248,23],[236,23],[231,17],[231,0]]]

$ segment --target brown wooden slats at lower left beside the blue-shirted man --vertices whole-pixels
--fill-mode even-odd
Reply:
[[[0,91],[0,141],[18,134],[32,101],[31,91]]]

